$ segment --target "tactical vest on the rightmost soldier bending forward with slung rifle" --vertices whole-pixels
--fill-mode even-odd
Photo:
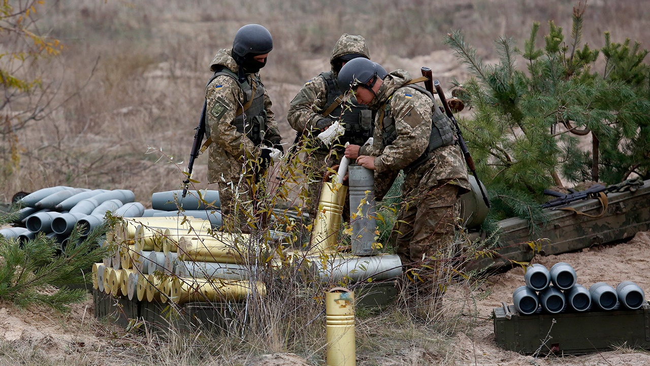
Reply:
[[[409,86],[419,92],[426,94],[426,96],[431,98],[432,102],[434,103],[434,106],[432,108],[433,113],[431,117],[431,135],[429,136],[429,145],[426,147],[426,150],[424,150],[422,155],[419,156],[419,158],[410,163],[408,167],[404,168],[404,172],[408,174],[410,171],[429,160],[431,153],[436,148],[454,145],[454,143],[456,143],[456,135],[454,135],[454,130],[452,130],[451,121],[447,115],[445,115],[445,113],[440,110],[437,103],[435,102],[434,96],[430,92],[426,91],[426,89],[420,85],[402,85],[402,87],[406,86]],[[393,96],[390,98],[393,98]],[[397,130],[395,128],[393,111],[391,111],[391,106],[388,104],[388,101],[383,105],[383,108],[380,108],[380,111],[381,115],[379,122],[382,124],[382,144],[383,146],[391,145],[397,138]]]

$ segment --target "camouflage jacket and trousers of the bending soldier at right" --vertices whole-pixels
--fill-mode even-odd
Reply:
[[[379,111],[374,143],[359,149],[359,155],[375,156],[376,197],[385,195],[400,169],[406,173],[402,186],[406,202],[393,231],[402,264],[444,251],[453,238],[458,196],[471,189],[458,145],[435,148],[421,158],[432,134],[432,113],[435,117],[441,112],[433,109],[434,100],[421,87],[404,86],[409,81],[411,76],[404,70],[383,79],[370,105]],[[391,128],[393,141],[388,138]]]

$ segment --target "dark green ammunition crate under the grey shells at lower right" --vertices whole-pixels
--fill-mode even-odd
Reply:
[[[493,309],[497,345],[521,354],[584,354],[617,346],[650,350],[650,305],[627,310],[532,315]]]

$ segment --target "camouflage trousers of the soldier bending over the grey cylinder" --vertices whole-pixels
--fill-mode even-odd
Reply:
[[[460,214],[457,201],[458,186],[443,184],[418,197],[416,202],[404,203],[391,233],[396,236],[396,253],[402,265],[413,267],[429,264],[431,259],[445,260]]]

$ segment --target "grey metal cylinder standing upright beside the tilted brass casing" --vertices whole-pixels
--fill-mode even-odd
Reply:
[[[372,255],[376,253],[373,244],[377,236],[374,171],[361,165],[350,164],[348,180],[352,254]]]

